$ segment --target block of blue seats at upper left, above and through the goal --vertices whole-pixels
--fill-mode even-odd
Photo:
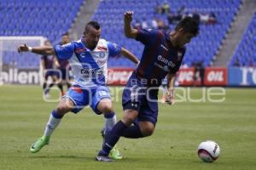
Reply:
[[[83,0],[1,0],[0,36],[43,36],[58,42],[67,32]],[[38,68],[39,58],[16,52],[3,55],[3,64],[18,68]]]

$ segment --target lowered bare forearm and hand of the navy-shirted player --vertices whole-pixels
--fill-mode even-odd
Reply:
[[[168,74],[167,75],[166,103],[169,105],[174,104],[174,83],[175,83],[175,74]]]

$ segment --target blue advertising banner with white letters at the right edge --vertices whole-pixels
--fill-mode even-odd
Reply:
[[[256,68],[230,67],[230,86],[256,86]]]

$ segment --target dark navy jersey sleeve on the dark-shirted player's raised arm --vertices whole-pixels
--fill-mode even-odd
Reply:
[[[136,40],[144,45],[153,45],[161,37],[161,32],[153,29],[138,29]]]

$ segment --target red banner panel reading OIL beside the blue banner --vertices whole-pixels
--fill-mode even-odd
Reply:
[[[209,67],[205,69],[206,86],[225,86],[228,83],[226,68]]]

